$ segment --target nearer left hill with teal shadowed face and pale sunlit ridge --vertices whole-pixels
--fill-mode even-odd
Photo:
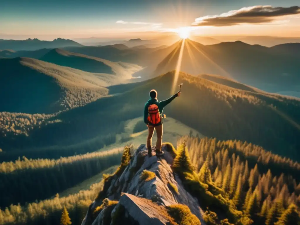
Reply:
[[[54,113],[94,101],[108,90],[97,74],[32,58],[1,59],[0,111]]]

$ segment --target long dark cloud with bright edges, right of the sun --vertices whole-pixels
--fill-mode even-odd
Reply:
[[[272,7],[270,5],[256,5],[231,10],[214,16],[203,16],[195,19],[192,26],[233,26],[243,23],[269,23],[280,16],[300,14],[299,6]]]

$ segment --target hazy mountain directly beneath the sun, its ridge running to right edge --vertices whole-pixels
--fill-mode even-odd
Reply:
[[[182,42],[165,49],[172,51],[153,68],[152,76],[176,69],[183,46],[181,71],[219,74],[269,92],[300,90],[298,43],[268,48],[241,41],[206,46],[188,39]]]

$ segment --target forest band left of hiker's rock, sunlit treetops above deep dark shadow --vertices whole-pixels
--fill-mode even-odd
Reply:
[[[23,158],[0,164],[0,207],[46,199],[120,163],[113,149],[58,160]]]

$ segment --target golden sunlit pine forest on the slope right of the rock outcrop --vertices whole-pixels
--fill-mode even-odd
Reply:
[[[297,162],[236,140],[184,137],[179,144],[183,142],[189,149],[190,162],[200,182],[222,190],[230,204],[253,220],[253,224],[298,224],[300,184],[296,180],[299,179]],[[257,164],[250,164],[248,159],[259,160]],[[269,166],[265,173],[260,172],[259,168],[265,171]],[[288,174],[280,173],[282,168]],[[290,215],[295,216],[295,223],[286,222]]]

